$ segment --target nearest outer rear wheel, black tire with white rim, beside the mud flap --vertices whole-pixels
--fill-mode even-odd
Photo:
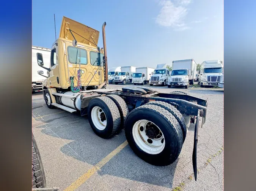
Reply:
[[[181,126],[160,106],[147,104],[133,109],[124,130],[133,152],[152,165],[170,165],[181,152]]]

